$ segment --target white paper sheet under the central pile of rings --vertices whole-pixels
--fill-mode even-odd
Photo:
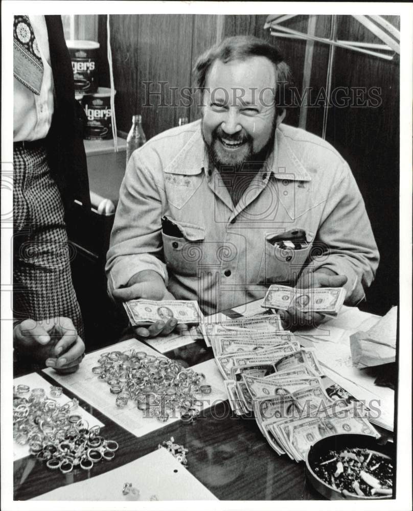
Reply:
[[[171,424],[171,422],[179,421],[179,413],[175,412],[174,416],[171,416],[167,422],[163,423],[159,422],[154,417],[144,416],[144,412],[138,410],[133,401],[129,401],[125,408],[118,408],[116,406],[116,396],[113,396],[113,394],[109,392],[109,385],[105,381],[99,380],[91,371],[92,367],[98,365],[98,359],[101,353],[111,351],[124,352],[132,348],[136,351],[145,351],[148,355],[155,355],[157,357],[163,356],[137,339],[128,339],[105,347],[102,350],[87,354],[80,364],[78,371],[72,375],[58,375],[50,368],[43,370],[61,385],[64,385],[91,406],[100,410],[113,422],[119,424],[135,436],[143,436],[151,431],[167,426]],[[211,367],[215,366],[214,360],[209,360],[207,362],[211,362]],[[208,367],[208,365],[202,366],[202,369],[205,369],[202,372],[206,376],[205,384],[211,385],[212,392],[202,400],[203,409],[209,408],[212,404],[218,402],[218,400],[223,401],[226,399],[226,393],[222,392],[221,387],[216,388],[214,384],[210,383],[208,379]],[[214,372],[211,374],[214,375]]]

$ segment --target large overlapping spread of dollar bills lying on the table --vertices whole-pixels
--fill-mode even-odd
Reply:
[[[379,436],[364,412],[327,395],[315,353],[282,330],[277,314],[204,323],[204,331],[232,409],[254,413],[277,453],[300,461],[324,436]]]

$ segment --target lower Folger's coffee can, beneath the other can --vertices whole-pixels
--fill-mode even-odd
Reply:
[[[116,91],[114,91],[116,94]],[[112,109],[110,88],[98,87],[95,94],[85,94],[82,106],[87,117],[85,140],[108,140],[112,137]]]

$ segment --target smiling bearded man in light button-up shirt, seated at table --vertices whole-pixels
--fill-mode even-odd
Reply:
[[[280,283],[342,286],[348,305],[363,299],[379,261],[363,199],[334,147],[284,124],[289,77],[278,49],[251,36],[198,59],[202,119],[160,133],[129,160],[107,254],[114,298],[172,295],[212,314]],[[294,236],[297,249],[274,243]],[[294,326],[323,319],[289,312]]]

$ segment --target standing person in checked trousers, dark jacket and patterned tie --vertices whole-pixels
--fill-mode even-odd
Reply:
[[[65,215],[90,207],[83,111],[60,16],[14,16],[13,343],[17,360],[77,369],[83,323]]]

